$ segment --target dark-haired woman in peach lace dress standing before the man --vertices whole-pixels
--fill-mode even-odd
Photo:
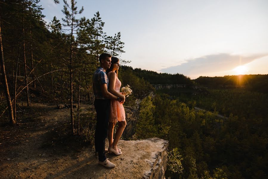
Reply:
[[[119,69],[119,59],[116,57],[111,58],[111,67],[106,70],[107,76],[109,78],[109,92],[113,95],[118,96],[123,99],[123,102],[117,100],[111,100],[110,118],[109,118],[109,128],[108,128],[108,139],[109,148],[108,151],[114,153],[115,155],[121,155],[121,149],[117,148],[117,143],[121,138],[121,135],[126,127],[126,114],[123,107],[125,101],[125,96],[120,93],[121,82],[117,78]],[[114,126],[116,122],[119,123],[119,127],[115,133],[114,140]]]

